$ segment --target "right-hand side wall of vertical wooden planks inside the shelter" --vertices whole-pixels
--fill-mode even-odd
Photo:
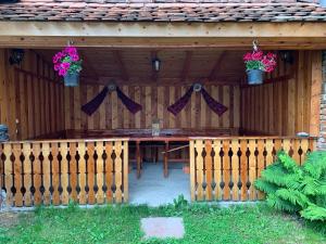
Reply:
[[[242,87],[240,127],[244,134],[294,136],[305,131],[317,136],[321,59],[319,51],[298,51],[292,65],[279,60],[277,69],[267,77],[271,82]]]

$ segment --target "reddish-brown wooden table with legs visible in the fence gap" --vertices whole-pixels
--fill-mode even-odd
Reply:
[[[185,136],[160,136],[160,137],[135,137],[130,138],[130,141],[136,142],[136,162],[137,162],[137,178],[140,178],[141,172],[141,156],[140,156],[140,143],[141,142],[163,142],[164,144],[164,160],[163,160],[163,169],[164,169],[164,177],[168,176],[168,149],[170,142],[189,142],[189,137]]]

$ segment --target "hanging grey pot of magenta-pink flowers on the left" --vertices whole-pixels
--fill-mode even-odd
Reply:
[[[63,76],[64,86],[76,87],[79,82],[82,60],[75,47],[68,46],[53,56],[54,70]]]

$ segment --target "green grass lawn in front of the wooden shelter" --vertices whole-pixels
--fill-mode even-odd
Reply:
[[[3,214],[2,214],[3,215]],[[183,240],[142,240],[140,218],[181,216]],[[0,215],[0,243],[326,243],[326,236],[294,217],[264,204],[218,208],[191,205],[149,208],[105,206],[92,209],[39,208],[34,213]]]

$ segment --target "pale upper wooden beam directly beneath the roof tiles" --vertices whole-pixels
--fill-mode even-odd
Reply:
[[[0,22],[2,37],[326,37],[322,29],[326,23]]]

